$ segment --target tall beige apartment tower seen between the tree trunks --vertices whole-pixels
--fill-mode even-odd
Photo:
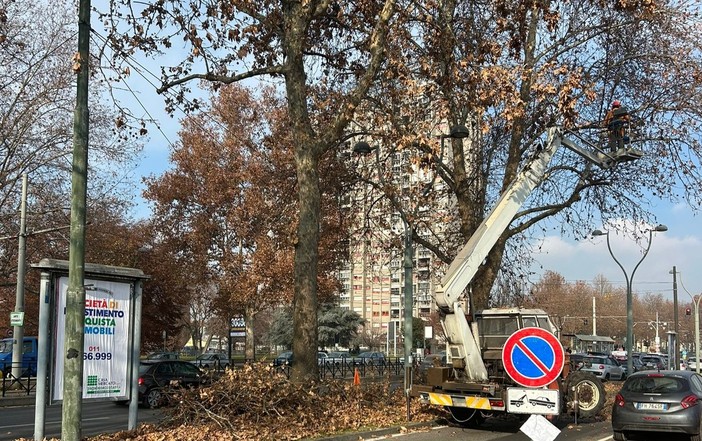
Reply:
[[[364,167],[366,184],[349,196],[354,213],[349,243],[349,261],[340,272],[340,307],[357,312],[366,320],[366,331],[386,341],[387,350],[402,351],[401,324],[404,322],[404,236],[405,224],[399,212],[377,191],[373,182],[391,182],[409,194],[412,186],[426,186],[431,179],[409,164],[405,153],[388,159],[391,167],[380,167],[378,156],[368,155]],[[408,172],[409,171],[409,172]],[[380,175],[382,173],[382,176]],[[382,181],[384,180],[384,181]],[[432,300],[432,254],[417,244],[412,247],[412,316],[428,319],[435,310]]]

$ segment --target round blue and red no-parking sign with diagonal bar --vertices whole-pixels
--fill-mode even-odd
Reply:
[[[552,383],[563,370],[565,354],[556,336],[541,328],[522,328],[502,348],[507,374],[525,387]]]

